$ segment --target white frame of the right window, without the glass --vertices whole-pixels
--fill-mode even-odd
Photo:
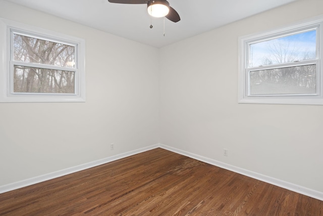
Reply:
[[[282,63],[278,65],[266,65],[258,67],[249,67],[249,45],[269,38],[276,38],[288,35],[293,32],[317,28],[316,34],[316,57],[314,60],[300,62]],[[239,69],[238,69],[238,103],[255,103],[255,104],[309,104],[323,105],[323,16],[315,17],[293,25],[284,26],[275,30],[242,36],[238,38],[239,52]],[[316,65],[316,92],[317,94],[308,95],[251,95],[249,90],[249,71],[265,70],[273,68]]]

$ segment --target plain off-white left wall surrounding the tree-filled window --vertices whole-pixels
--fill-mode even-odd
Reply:
[[[158,143],[158,49],[5,1],[0,17],[86,40],[85,103],[0,103],[0,186]]]

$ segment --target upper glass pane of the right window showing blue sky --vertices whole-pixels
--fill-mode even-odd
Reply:
[[[316,30],[250,45],[249,67],[316,59]]]

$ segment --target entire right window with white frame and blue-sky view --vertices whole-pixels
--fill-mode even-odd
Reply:
[[[322,21],[239,38],[239,103],[323,105]]]

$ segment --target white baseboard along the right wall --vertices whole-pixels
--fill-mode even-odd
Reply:
[[[243,168],[240,168],[240,167],[237,167],[237,166],[233,166],[233,165],[230,165],[230,164],[227,164],[227,163],[223,163],[223,162],[218,161],[218,160],[213,160],[213,159],[210,159],[210,158],[207,158],[207,157],[203,157],[203,156],[200,156],[200,155],[197,155],[197,154],[193,154],[193,153],[183,151],[183,150],[180,150],[180,149],[176,149],[176,148],[166,146],[166,145],[163,145],[163,144],[159,144],[159,147],[163,148],[163,149],[166,149],[166,150],[169,150],[169,151],[172,151],[172,152],[175,152],[175,153],[178,153],[178,154],[181,154],[181,155],[188,156],[190,158],[194,158],[194,159],[199,160],[199,161],[203,161],[205,163],[208,163],[208,164],[211,164],[211,165],[214,165],[214,166],[219,166],[221,168],[237,172],[238,174],[241,174],[241,175],[253,178],[253,179],[257,179],[257,180],[260,180],[262,182],[266,182],[266,183],[269,183],[269,184],[272,184],[272,185],[276,185],[278,187],[285,188],[285,189],[288,189],[290,191],[294,191],[294,192],[297,192],[297,193],[300,193],[300,194],[303,194],[303,195],[306,195],[306,196],[309,196],[309,197],[313,197],[315,199],[319,199],[319,200],[323,201],[323,193],[319,192],[319,191],[315,191],[315,190],[312,190],[312,189],[309,189],[309,188],[305,188],[305,187],[295,185],[295,184],[292,184],[292,183],[289,183],[289,182],[285,182],[285,181],[282,181],[282,180],[279,180],[279,179],[275,179],[275,178],[272,178],[272,177],[269,177],[269,176],[258,174],[257,172],[254,172],[254,171],[243,169]]]

